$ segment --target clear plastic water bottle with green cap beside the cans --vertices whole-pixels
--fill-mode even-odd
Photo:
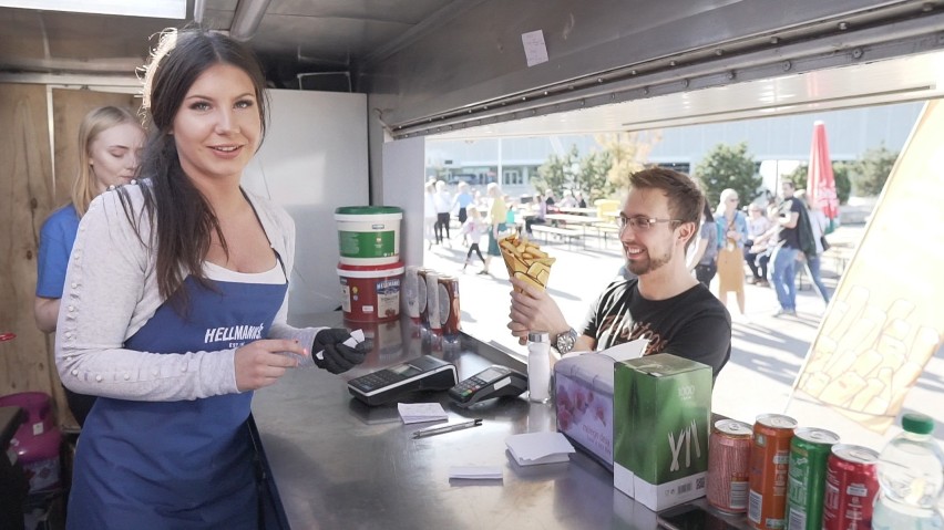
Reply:
[[[904,432],[879,456],[879,484],[872,528],[944,529],[937,502],[944,489],[944,451],[931,437],[934,420],[923,414],[902,416]]]

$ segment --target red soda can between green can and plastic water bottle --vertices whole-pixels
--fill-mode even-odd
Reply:
[[[827,463],[823,530],[872,528],[872,503],[879,493],[879,454],[868,447],[832,446]]]

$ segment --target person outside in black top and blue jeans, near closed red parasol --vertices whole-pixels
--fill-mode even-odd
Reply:
[[[777,301],[780,302],[780,309],[777,310],[774,316],[797,314],[796,276],[797,258],[800,254],[798,226],[800,209],[803,208],[803,205],[793,198],[793,191],[794,187],[791,180],[783,180],[780,184],[783,201],[778,208],[774,227],[771,228],[771,230],[779,230],[777,246],[773,249],[773,256],[770,258],[772,267],[770,281],[773,283],[774,291],[777,291]]]

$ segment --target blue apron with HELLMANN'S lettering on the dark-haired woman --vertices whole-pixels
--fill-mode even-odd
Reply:
[[[125,347],[214,352],[268,335],[287,282],[212,283],[215,291],[185,279],[186,315],[165,301]],[[252,392],[179,402],[100,397],[78,445],[68,528],[258,528],[252,399]]]

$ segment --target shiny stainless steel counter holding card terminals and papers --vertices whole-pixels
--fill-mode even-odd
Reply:
[[[340,318],[295,323],[306,322],[338,325]],[[295,370],[256,394],[253,412],[293,529],[656,528],[655,513],[615,490],[613,475],[584,453],[532,467],[506,455],[507,436],[554,430],[551,404],[502,398],[462,409],[444,392],[421,394],[411,401],[442,403],[451,422],[484,422],[412,439],[434,424],[403,425],[396,404],[367,407],[347,381],[424,353],[454,363],[460,380],[493,363],[524,366],[466,335],[461,345],[432,346],[409,321],[365,331],[380,340],[362,366],[343,376]],[[450,480],[451,466],[501,466],[504,479]]]

